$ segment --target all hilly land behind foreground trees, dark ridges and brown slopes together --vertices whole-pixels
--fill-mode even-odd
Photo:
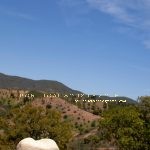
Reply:
[[[6,83],[5,83],[6,81]],[[20,83],[21,82],[21,83]],[[26,83],[26,86],[24,85]],[[42,84],[41,84],[42,83]],[[46,85],[44,83],[47,83]],[[55,83],[55,84],[52,84]],[[31,84],[31,85],[30,85]],[[7,86],[6,86],[7,85]],[[62,86],[62,89],[60,88]],[[22,86],[24,88],[22,88]],[[28,88],[28,86],[30,88]],[[58,87],[57,87],[58,86]],[[47,87],[53,88],[52,91],[49,91]],[[18,90],[19,89],[19,90]],[[42,92],[39,92],[42,91]],[[43,94],[50,95],[50,93],[62,93],[60,97],[43,97]],[[74,93],[66,97],[65,93]],[[34,94],[35,97],[32,99],[28,97],[19,97],[20,94]],[[98,124],[99,121],[103,119],[101,115],[102,112],[107,110],[107,107],[104,107],[103,102],[88,102],[83,101],[84,99],[89,100],[127,100],[127,103],[135,104],[136,101],[128,97],[108,97],[108,96],[94,96],[90,95],[87,97],[85,94],[83,97],[78,97],[78,91],[72,90],[67,86],[63,85],[57,81],[48,81],[48,80],[31,80],[21,77],[7,76],[0,74],[0,116],[1,118],[7,117],[7,113],[11,109],[19,108],[23,109],[28,104],[32,104],[33,108],[39,108],[42,106],[45,110],[55,110],[60,112],[62,122],[69,122],[72,127],[72,141],[68,143],[68,150],[81,149],[88,150],[93,147],[92,142],[86,143],[90,140],[96,140],[99,135]],[[55,94],[54,94],[55,95]],[[78,102],[75,102],[75,99],[79,99]],[[111,103],[113,107],[117,103]],[[125,104],[125,103],[123,103]],[[122,107],[123,108],[123,107]],[[38,109],[37,109],[38,110]],[[26,112],[26,111],[25,111]],[[29,117],[30,118],[30,117]],[[6,120],[6,119],[4,119]],[[26,130],[25,130],[26,131]],[[57,131],[57,130],[56,130]],[[4,130],[0,130],[0,134],[4,135]],[[107,143],[107,142],[106,142]],[[106,144],[99,142],[95,147],[108,147],[112,148],[113,144]]]

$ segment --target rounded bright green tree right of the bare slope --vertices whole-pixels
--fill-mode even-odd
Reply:
[[[101,139],[115,141],[121,150],[143,149],[144,121],[136,107],[116,107],[104,112],[100,120]]]

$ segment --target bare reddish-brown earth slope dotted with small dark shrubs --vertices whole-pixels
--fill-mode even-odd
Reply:
[[[59,110],[63,115],[71,116],[73,117],[74,121],[77,121],[78,123],[90,123],[94,120],[100,119],[100,116],[93,115],[92,113],[89,113],[87,111],[84,111],[77,106],[68,103],[66,100],[63,100],[61,98],[42,98],[42,99],[36,99],[33,101],[33,105],[35,106],[44,106],[51,105],[53,108],[56,108]]]

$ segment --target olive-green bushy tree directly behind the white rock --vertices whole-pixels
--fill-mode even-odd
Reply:
[[[61,121],[59,112],[32,105],[12,109],[3,124],[5,136],[1,143],[12,146],[11,149],[15,149],[23,138],[32,137],[35,140],[51,138],[60,149],[65,150],[72,137],[71,125]]]

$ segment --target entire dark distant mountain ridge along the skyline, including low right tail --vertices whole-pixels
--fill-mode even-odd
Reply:
[[[53,80],[32,80],[19,76],[11,76],[0,73],[0,89],[15,89],[23,91],[42,91],[48,93],[61,93],[61,94],[82,94],[83,92],[71,89],[61,82]],[[87,99],[86,94],[85,97]],[[126,100],[128,104],[136,104],[137,102],[129,97],[109,97],[109,96],[92,96],[91,99],[109,99],[109,100]]]

